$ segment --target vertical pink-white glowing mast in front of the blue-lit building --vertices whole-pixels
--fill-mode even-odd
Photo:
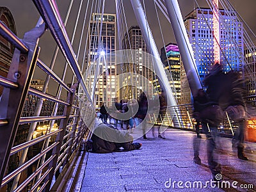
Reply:
[[[212,0],[213,18],[212,18],[212,35],[214,37],[214,64],[220,63],[220,22],[219,22],[219,1]]]

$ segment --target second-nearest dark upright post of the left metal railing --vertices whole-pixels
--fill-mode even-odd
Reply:
[[[68,93],[68,97],[67,97],[67,102],[69,103],[69,105],[65,106],[65,109],[63,111],[63,116],[66,116],[66,118],[62,119],[60,122],[59,129],[62,129],[62,130],[56,136],[56,142],[58,142],[58,145],[56,145],[56,147],[54,147],[52,149],[52,155],[56,154],[56,156],[54,157],[54,159],[52,159],[51,163],[49,163],[48,170],[51,169],[51,172],[49,173],[49,175],[47,175],[45,177],[45,182],[47,182],[47,185],[45,186],[45,189],[43,189],[44,191],[50,191],[51,181],[54,176],[54,170],[58,163],[58,157],[60,155],[60,149],[61,149],[61,145],[63,143],[63,137],[65,135],[66,127],[68,125],[69,116],[70,116],[70,113],[72,110],[72,104],[74,102],[76,88],[72,87],[72,90],[74,90],[74,92]]]

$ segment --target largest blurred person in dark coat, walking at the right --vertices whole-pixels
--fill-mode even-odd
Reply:
[[[245,104],[243,100],[243,83],[234,72],[223,72],[222,65],[213,65],[209,74],[204,79],[207,88],[209,101],[218,104],[223,111],[227,111],[228,116],[239,124],[239,145],[237,146],[237,156],[239,159],[247,160],[243,152],[244,143],[244,120]],[[241,112],[239,112],[241,111]],[[207,136],[207,157],[212,175],[221,173],[221,166],[216,158],[216,136],[218,134],[218,123],[209,123],[210,134]]]

